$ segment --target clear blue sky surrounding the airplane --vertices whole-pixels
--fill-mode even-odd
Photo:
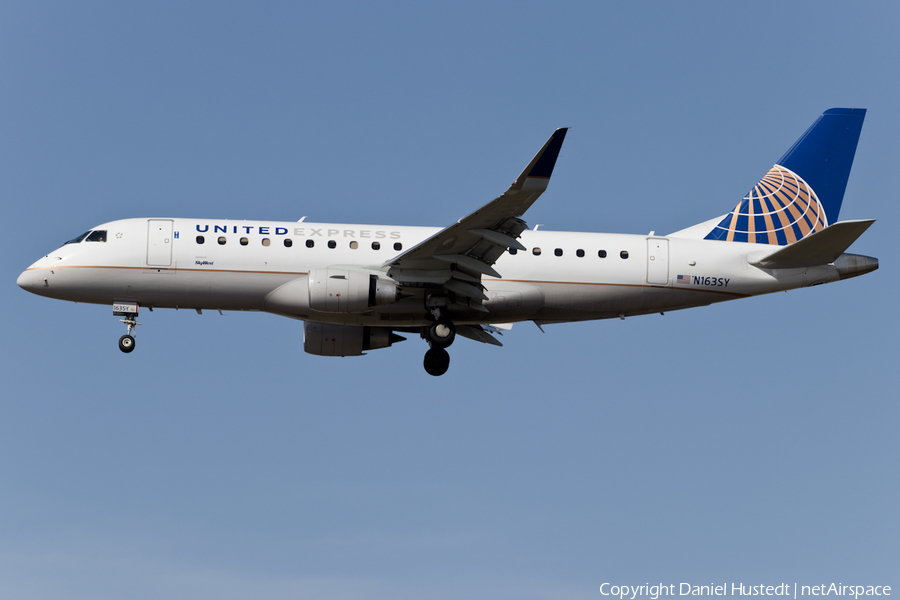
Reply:
[[[824,5],[823,5],[824,4]],[[0,595],[600,597],[900,585],[895,3],[0,5]],[[869,109],[865,277],[625,321],[307,355],[264,314],[15,285],[93,225],[445,226],[571,127],[546,229],[730,210]],[[895,183],[891,183],[894,181]]]

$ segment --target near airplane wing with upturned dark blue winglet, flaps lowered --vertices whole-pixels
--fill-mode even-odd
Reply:
[[[557,129],[501,196],[382,267],[402,283],[442,286],[473,310],[485,311],[481,276],[501,277],[493,264],[526,229],[521,217],[547,189],[568,128]]]

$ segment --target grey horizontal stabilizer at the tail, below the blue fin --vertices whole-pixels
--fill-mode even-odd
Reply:
[[[797,269],[833,263],[874,222],[869,219],[835,223],[764,258],[751,258],[750,264],[764,269]]]

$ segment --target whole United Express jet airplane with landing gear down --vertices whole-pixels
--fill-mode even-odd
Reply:
[[[443,229],[134,218],[104,223],[28,267],[40,296],[112,305],[119,349],[139,307],[260,311],[304,322],[304,350],[359,356],[419,334],[443,375],[456,336],[502,345],[513,323],[664,313],[848,279],[878,259],[845,252],[874,220],[838,221],[865,109],[833,108],[731,212],[668,235],[538,231],[557,129],[502,195]]]

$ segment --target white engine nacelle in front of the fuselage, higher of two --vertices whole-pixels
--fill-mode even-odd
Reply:
[[[308,280],[309,307],[321,312],[363,312],[397,301],[396,282],[369,271],[312,269]]]

